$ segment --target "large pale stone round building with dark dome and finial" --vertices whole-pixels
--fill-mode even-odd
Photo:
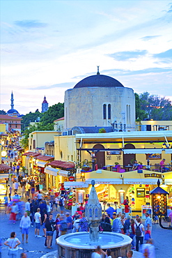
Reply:
[[[65,91],[65,130],[80,127],[111,127],[134,130],[135,98],[133,89],[117,79],[97,75],[82,79]]]

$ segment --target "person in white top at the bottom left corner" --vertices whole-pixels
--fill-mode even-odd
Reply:
[[[11,232],[10,238],[8,238],[5,242],[4,245],[8,246],[8,255],[10,258],[17,258],[17,250],[18,245],[20,245],[21,242],[19,239],[16,237],[15,232]]]

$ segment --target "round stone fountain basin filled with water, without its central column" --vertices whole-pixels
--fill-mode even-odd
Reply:
[[[103,250],[111,249],[111,257],[125,257],[130,250],[132,238],[123,234],[103,232],[99,235],[98,243],[89,243],[89,233],[77,232],[60,236],[56,239],[58,244],[58,257],[61,258],[90,258],[97,245]]]

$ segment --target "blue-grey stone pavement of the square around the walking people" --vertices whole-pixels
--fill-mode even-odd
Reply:
[[[54,212],[54,218],[57,212]],[[5,241],[9,236],[10,232],[15,231],[17,233],[17,238],[22,241],[22,234],[19,229],[19,221],[15,225],[10,224],[8,221],[9,215],[4,214],[4,211],[0,211],[0,236],[3,241]],[[57,245],[55,243],[55,232],[52,244],[52,251],[57,250]],[[43,235],[43,230],[40,229],[40,235]],[[155,251],[156,258],[172,258],[172,230],[162,229],[159,225],[153,225],[153,239],[155,241]],[[28,258],[40,258],[46,255],[49,250],[44,247],[45,238],[36,238],[34,234],[34,227],[29,230],[29,243],[22,243],[19,245],[19,252],[26,252]],[[2,257],[8,257],[8,248],[6,245],[2,245]],[[19,255],[18,255],[19,257]],[[49,258],[54,258],[52,253],[49,253]],[[150,257],[151,258],[151,257]]]

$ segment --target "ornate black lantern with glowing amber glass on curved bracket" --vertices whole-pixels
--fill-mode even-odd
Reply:
[[[150,191],[152,195],[152,207],[153,215],[159,217],[159,226],[163,229],[172,229],[171,227],[164,227],[162,225],[162,217],[167,215],[167,202],[166,197],[169,195],[169,192],[166,192],[164,189],[159,187],[160,181],[157,181],[157,188]]]

